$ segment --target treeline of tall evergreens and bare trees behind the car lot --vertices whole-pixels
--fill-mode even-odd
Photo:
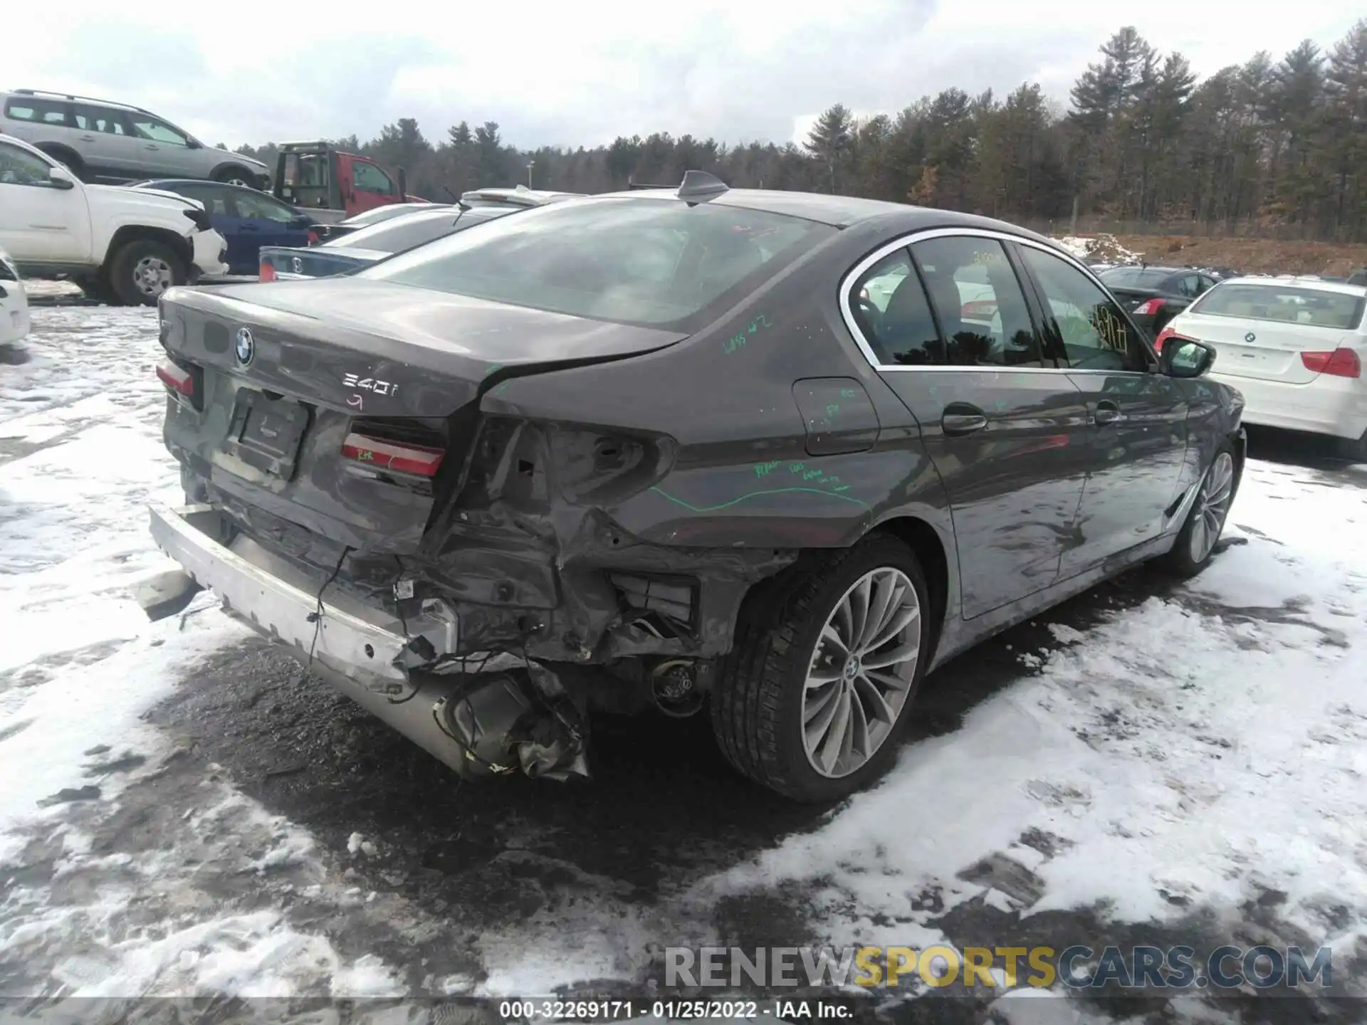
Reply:
[[[897,115],[820,115],[804,145],[621,137],[608,146],[504,145],[461,120],[435,144],[401,118],[335,142],[403,167],[409,191],[528,182],[600,193],[716,174],[731,187],[797,189],[942,206],[1038,224],[1106,220],[1239,234],[1367,241],[1367,19],[1322,49],[1255,53],[1200,81],[1133,27],[1099,48],[1066,107],[1039,85],[1005,97],[946,89]],[[275,165],[275,148],[242,146]],[[1184,228],[1185,226],[1185,228]]]

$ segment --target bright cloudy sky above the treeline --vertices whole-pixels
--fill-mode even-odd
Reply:
[[[1363,11],[1362,0],[524,0],[480,18],[452,8],[483,4],[431,0],[283,4],[279,18],[269,4],[10,7],[0,87],[122,100],[234,146],[364,139],[402,116],[433,139],[462,119],[495,120],[521,146],[662,130],[786,141],[837,101],[895,112],[947,86],[1001,93],[1023,81],[1066,101],[1126,23],[1208,74],[1307,37],[1327,46]]]

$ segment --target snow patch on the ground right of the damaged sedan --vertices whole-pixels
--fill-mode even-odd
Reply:
[[[1367,931],[1367,492],[1254,462],[1230,519],[1248,544],[1167,599],[1055,630],[1064,646],[1023,653],[1029,671],[962,730],[703,891],[804,882],[833,943],[951,946],[927,922],[973,899],[1233,924],[1274,894],[1285,927],[1351,950]]]

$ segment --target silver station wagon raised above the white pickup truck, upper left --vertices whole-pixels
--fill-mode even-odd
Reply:
[[[141,107],[15,89],[0,93],[0,133],[30,142],[82,182],[200,178],[265,189],[260,160],[206,146]]]

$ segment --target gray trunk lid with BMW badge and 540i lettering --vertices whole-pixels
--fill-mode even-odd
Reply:
[[[175,288],[161,343],[187,368],[167,446],[260,541],[310,562],[417,551],[500,380],[684,336],[346,277]]]

